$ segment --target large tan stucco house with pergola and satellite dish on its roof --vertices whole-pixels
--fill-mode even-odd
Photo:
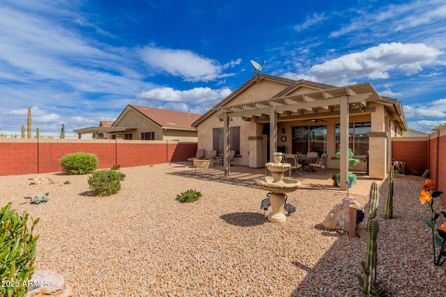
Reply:
[[[348,161],[336,159],[339,145],[344,160],[348,147],[362,159],[368,153],[369,176],[384,179],[391,139],[408,129],[401,102],[381,97],[370,83],[334,87],[268,74],[249,79],[192,127],[198,129],[198,147],[224,155],[236,150],[233,163],[252,168],[265,166],[276,151],[327,153],[328,167],[341,170],[341,183]],[[364,170],[363,163],[355,169]]]

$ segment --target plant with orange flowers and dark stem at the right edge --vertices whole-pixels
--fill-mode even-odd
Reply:
[[[431,194],[432,193],[432,194]],[[436,213],[433,209],[433,198],[438,198],[443,192],[436,191],[436,184],[432,182],[431,179],[426,179],[426,184],[423,186],[423,191],[421,191],[420,202],[421,204],[428,203],[431,207],[431,218],[426,218],[426,224],[431,227],[432,232],[432,249],[433,249],[433,264],[440,266],[446,261],[446,224],[441,224],[440,228],[437,229],[438,235],[435,234],[435,225],[440,214],[446,218],[446,211],[440,211],[440,214]],[[440,252],[438,257],[436,256],[436,245],[440,247]],[[445,257],[442,261],[442,257]]]

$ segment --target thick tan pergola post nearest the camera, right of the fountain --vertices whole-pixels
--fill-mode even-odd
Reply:
[[[341,107],[341,121],[340,121],[340,134],[341,134],[341,159],[339,160],[340,168],[340,184],[341,190],[346,191],[348,188],[348,123],[350,122],[348,113],[348,97],[341,97],[339,105]]]

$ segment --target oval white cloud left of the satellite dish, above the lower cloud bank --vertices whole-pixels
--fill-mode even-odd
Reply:
[[[222,73],[217,61],[184,49],[143,47],[138,53],[149,67],[183,77],[185,81],[212,81]]]

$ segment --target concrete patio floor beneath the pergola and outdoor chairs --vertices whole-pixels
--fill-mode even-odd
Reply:
[[[259,177],[270,176],[270,172],[266,168],[249,168],[248,166],[231,166],[229,175],[224,175],[224,167],[221,164],[215,162],[213,168],[196,168],[193,163],[178,162],[171,163],[171,169],[178,170],[177,175],[183,175],[187,177],[197,179],[208,179],[213,181],[220,181],[227,184],[240,184],[245,186],[251,186],[253,188],[259,188],[256,184],[256,179]],[[339,186],[333,186],[332,175],[339,173],[339,169],[325,168],[325,173],[320,168],[316,168],[316,172],[305,171],[302,174],[302,168],[298,170],[300,176],[296,176],[293,172],[291,178],[298,179],[302,186],[301,188],[316,190],[332,190],[342,193],[347,191],[341,191]],[[352,188],[348,189],[348,194],[352,195],[369,195],[370,186],[372,182],[376,182],[378,186],[383,183],[382,179],[371,179],[365,172],[355,172],[357,175],[357,182]],[[288,173],[285,172],[285,177],[288,177]]]

